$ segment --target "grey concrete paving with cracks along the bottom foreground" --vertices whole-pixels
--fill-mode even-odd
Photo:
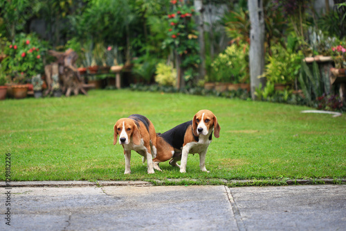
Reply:
[[[0,190],[0,230],[346,230],[346,185]]]

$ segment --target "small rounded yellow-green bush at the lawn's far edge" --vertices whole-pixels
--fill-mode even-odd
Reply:
[[[155,81],[159,85],[174,87],[176,85],[176,69],[171,65],[165,65],[162,62],[158,63],[156,66]]]

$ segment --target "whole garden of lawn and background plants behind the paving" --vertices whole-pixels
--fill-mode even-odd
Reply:
[[[210,173],[189,155],[187,181],[345,178],[345,118],[300,113],[346,110],[346,2],[325,2],[263,1],[253,88],[248,1],[1,1],[0,151],[12,180],[181,178],[168,163],[148,176],[135,153],[124,176],[112,128],[138,113],[165,132],[201,109],[221,133]]]

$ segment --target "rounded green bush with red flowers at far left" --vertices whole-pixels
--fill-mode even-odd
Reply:
[[[16,83],[26,83],[31,77],[44,72],[42,56],[47,46],[34,34],[21,33],[15,42],[8,42],[4,53],[8,55],[3,62],[2,71]]]

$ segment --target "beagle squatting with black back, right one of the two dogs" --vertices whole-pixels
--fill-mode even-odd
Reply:
[[[220,126],[217,117],[210,110],[200,110],[192,121],[181,123],[163,134],[157,133],[154,169],[161,171],[158,164],[172,158],[172,166],[179,166],[176,162],[181,160],[180,172],[185,173],[188,154],[199,153],[199,167],[201,171],[209,173],[205,161],[208,146],[212,142],[212,132],[219,138]]]

